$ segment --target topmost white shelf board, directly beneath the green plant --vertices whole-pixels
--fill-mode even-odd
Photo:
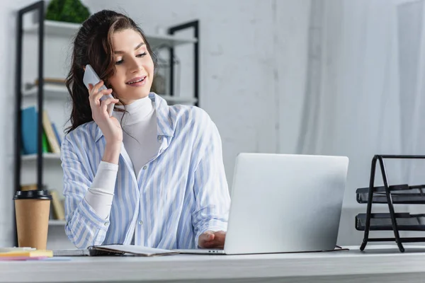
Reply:
[[[78,23],[64,23],[58,21],[45,21],[45,35],[56,35],[62,37],[74,36],[77,34],[80,24]],[[25,28],[27,33],[38,33],[38,23]],[[169,47],[195,43],[197,40],[193,37],[180,37],[175,35],[149,35],[145,34],[147,41],[152,48],[159,45],[167,45]]]

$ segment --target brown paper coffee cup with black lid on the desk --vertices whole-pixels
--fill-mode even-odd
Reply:
[[[52,196],[47,190],[18,191],[13,200],[18,246],[45,250]]]

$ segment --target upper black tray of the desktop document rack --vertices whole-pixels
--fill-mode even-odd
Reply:
[[[425,204],[425,185],[391,185],[389,186],[393,204]],[[368,203],[369,187],[356,190],[358,203]],[[386,204],[385,186],[373,187],[373,203]]]

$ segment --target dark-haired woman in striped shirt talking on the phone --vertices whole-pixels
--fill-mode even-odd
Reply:
[[[77,248],[224,246],[230,199],[220,134],[200,108],[149,92],[154,62],[142,30],[114,11],[95,13],[75,37],[61,158],[65,231]],[[89,90],[86,64],[102,79]]]

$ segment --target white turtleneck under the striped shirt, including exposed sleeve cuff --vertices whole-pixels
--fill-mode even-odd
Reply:
[[[115,107],[124,109],[123,105]],[[149,96],[126,105],[125,110],[127,112],[114,111],[113,116],[123,127],[123,145],[137,177],[140,169],[157,156],[159,151],[157,113]],[[111,212],[117,172],[118,164],[101,161],[85,196],[86,201],[103,219]]]

